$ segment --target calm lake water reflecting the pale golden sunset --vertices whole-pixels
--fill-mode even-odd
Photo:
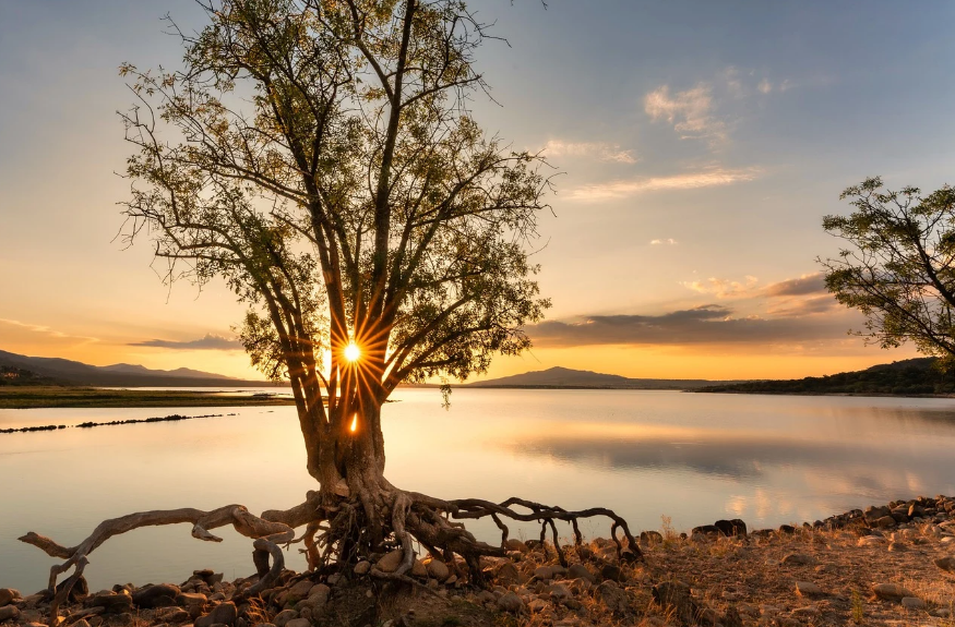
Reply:
[[[659,529],[661,515],[677,529],[725,517],[768,527],[955,494],[955,400],[455,390],[444,411],[438,390],[395,398],[383,410],[394,484],[444,498],[608,506],[634,531]],[[16,541],[26,531],[74,544],[132,511],[241,503],[259,513],[313,487],[293,407],[0,410],[0,427],[171,413],[235,415],[0,435],[0,586],[45,586],[52,559]],[[498,538],[493,523],[470,528]],[[251,572],[247,539],[220,529],[225,542],[204,543],[189,531],[109,540],[91,556],[91,586],[178,582],[204,567]],[[303,565],[295,545],[288,560]]]

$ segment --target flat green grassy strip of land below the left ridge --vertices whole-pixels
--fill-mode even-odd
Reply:
[[[0,409],[108,407],[252,407],[293,405],[272,394],[223,394],[217,390],[143,390],[95,387],[0,387]]]

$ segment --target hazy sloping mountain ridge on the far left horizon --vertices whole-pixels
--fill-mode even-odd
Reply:
[[[242,381],[222,374],[188,367],[151,370],[142,365],[117,363],[89,365],[79,361],[48,357],[26,357],[0,350],[0,369],[20,372],[5,376],[4,383],[17,385],[93,385],[99,387],[240,387],[272,385],[261,381]]]

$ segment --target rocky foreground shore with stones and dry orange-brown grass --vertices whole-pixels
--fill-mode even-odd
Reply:
[[[81,580],[59,608],[67,627],[452,627],[598,625],[955,625],[955,498],[919,497],[814,523],[749,530],[721,520],[641,534],[644,559],[621,563],[613,542],[565,546],[511,539],[487,559],[486,588],[463,564],[416,562],[414,586],[384,582],[401,553],[347,571],[286,570],[260,596],[255,577],[196,570],[178,586]],[[43,627],[50,595],[0,589],[0,624]]]

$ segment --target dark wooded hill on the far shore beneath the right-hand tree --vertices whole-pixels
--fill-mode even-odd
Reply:
[[[751,381],[703,387],[696,391],[736,394],[855,394],[947,395],[955,394],[955,373],[943,373],[931,357],[873,365],[856,372],[808,376],[788,381]]]

